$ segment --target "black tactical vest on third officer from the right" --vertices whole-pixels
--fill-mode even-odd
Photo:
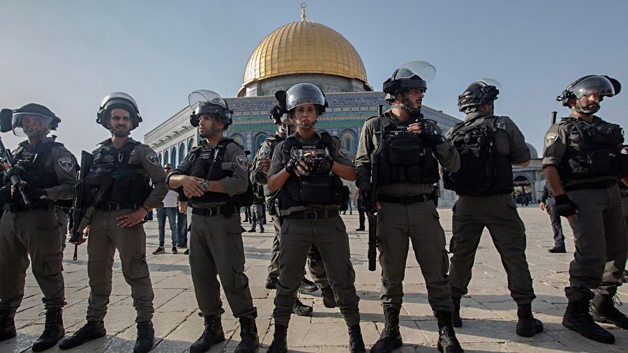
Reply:
[[[382,134],[382,117],[379,118],[382,139],[375,150],[377,158],[377,186],[395,182],[434,184],[438,182],[438,160],[433,148],[424,139],[403,130],[392,130],[389,124]]]

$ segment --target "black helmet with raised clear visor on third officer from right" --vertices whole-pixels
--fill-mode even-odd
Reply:
[[[435,74],[436,69],[431,63],[425,61],[405,63],[384,81],[385,99],[388,102],[394,101],[397,93],[412,88],[422,88],[427,91],[427,84],[434,79]]]

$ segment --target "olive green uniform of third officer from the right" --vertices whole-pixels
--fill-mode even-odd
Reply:
[[[383,132],[387,126],[407,126],[410,121],[401,122],[389,111],[381,119],[370,118],[362,128],[360,143],[355,157],[357,187],[372,189],[371,175],[373,151],[382,143]],[[431,120],[440,133],[440,127]],[[445,168],[457,170],[460,164],[458,152],[449,143],[440,143],[434,148],[434,155]],[[432,310],[452,311],[451,290],[449,288],[449,258],[445,250],[444,230],[440,226],[438,212],[431,201],[433,184],[393,182],[388,185],[376,185],[377,195],[414,196],[416,201],[409,205],[402,203],[380,202],[377,211],[377,249],[382,266],[382,306],[401,308],[403,303],[403,279],[408,248],[412,240],[414,256],[419,262],[428,290],[428,301]],[[421,199],[421,196],[423,198]],[[429,199],[428,199],[429,197]]]

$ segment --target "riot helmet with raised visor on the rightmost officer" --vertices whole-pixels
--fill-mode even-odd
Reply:
[[[583,107],[580,100],[583,96],[597,95],[599,102],[601,102],[604,97],[613,97],[613,95],[619,94],[621,90],[622,85],[618,80],[604,75],[590,74],[569,84],[565,91],[556,97],[556,100],[562,102],[564,107],[569,107],[569,100],[574,99],[576,101],[575,109],[578,113],[593,114],[599,110],[599,104]]]

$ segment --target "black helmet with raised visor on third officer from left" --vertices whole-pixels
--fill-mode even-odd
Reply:
[[[190,124],[193,127],[198,126],[199,116],[202,114],[208,114],[214,118],[220,119],[225,125],[223,130],[227,130],[227,127],[233,123],[231,118],[233,111],[229,109],[229,104],[214,91],[194,91],[188,96],[188,103],[190,104],[190,109],[192,109]]]

